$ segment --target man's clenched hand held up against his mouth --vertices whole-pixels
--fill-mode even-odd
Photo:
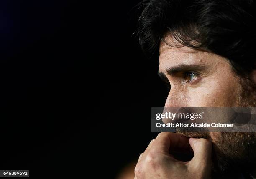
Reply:
[[[170,151],[194,151],[188,162],[174,159]],[[138,159],[134,179],[210,179],[212,142],[162,132]]]

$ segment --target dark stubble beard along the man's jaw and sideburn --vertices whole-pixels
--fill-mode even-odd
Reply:
[[[256,107],[256,84],[248,78],[240,78],[239,83],[241,87],[234,106]],[[256,132],[177,132],[186,137],[212,140],[213,173],[255,173]]]

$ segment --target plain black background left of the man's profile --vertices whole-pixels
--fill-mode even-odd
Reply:
[[[167,91],[138,2],[0,2],[0,169],[114,178],[146,149]]]

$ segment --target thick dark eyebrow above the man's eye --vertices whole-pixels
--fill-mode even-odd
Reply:
[[[175,75],[179,72],[184,72],[184,71],[198,71],[198,70],[204,70],[205,69],[205,65],[187,65],[187,64],[180,64],[174,67],[170,67],[166,70],[164,70],[164,72],[160,72],[158,71],[158,75],[163,78],[166,77],[165,73],[168,75]]]

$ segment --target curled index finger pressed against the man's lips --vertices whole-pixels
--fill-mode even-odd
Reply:
[[[161,132],[154,141],[151,150],[169,154],[170,150],[189,150],[189,139],[181,134],[172,132]]]

